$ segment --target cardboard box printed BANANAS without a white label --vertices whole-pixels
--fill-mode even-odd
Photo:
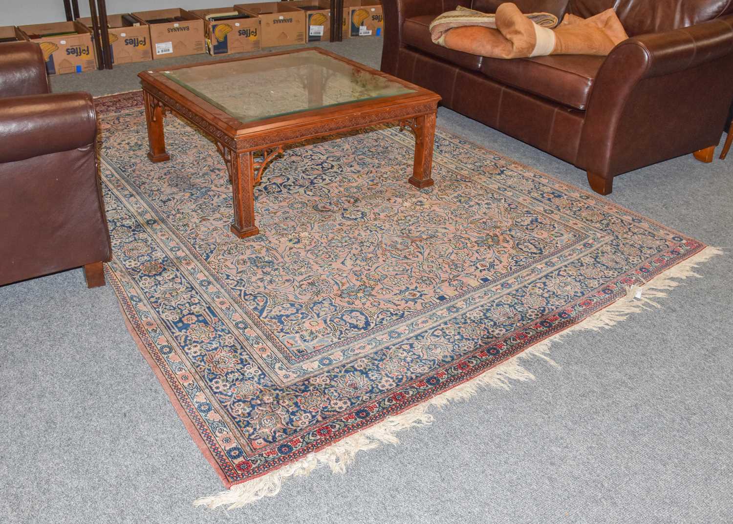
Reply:
[[[297,45],[306,43],[306,13],[290,2],[262,2],[259,4],[237,4],[240,10],[259,16],[263,48],[278,45]]]

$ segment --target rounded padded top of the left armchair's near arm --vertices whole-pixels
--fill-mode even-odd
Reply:
[[[88,93],[0,98],[0,162],[87,147],[96,134]]]

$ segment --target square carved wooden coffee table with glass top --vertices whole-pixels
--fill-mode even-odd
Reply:
[[[163,111],[211,136],[234,193],[232,232],[257,235],[254,185],[287,144],[397,122],[415,133],[408,178],[432,185],[432,141],[439,95],[320,48],[218,60],[139,73],[150,141],[148,158],[169,160]]]

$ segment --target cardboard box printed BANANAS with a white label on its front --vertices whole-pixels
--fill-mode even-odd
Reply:
[[[136,11],[132,15],[150,29],[153,59],[205,53],[204,21],[185,9]],[[169,19],[166,22],[153,22]]]

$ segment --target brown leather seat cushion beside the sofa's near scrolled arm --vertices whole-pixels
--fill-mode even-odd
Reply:
[[[485,58],[481,72],[501,84],[584,111],[604,59],[589,55]]]

